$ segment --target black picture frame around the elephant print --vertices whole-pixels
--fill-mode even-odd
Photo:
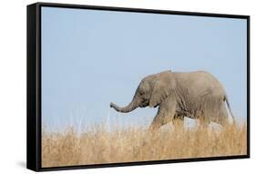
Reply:
[[[93,9],[120,12],[136,12],[166,15],[196,15],[224,18],[241,18],[247,20],[247,155],[195,158],[195,159],[169,159],[140,162],[125,162],[111,164],[93,164],[65,167],[42,168],[41,165],[41,8],[43,6]],[[161,163],[206,161],[220,159],[247,159],[250,158],[250,16],[210,14],[198,12],[179,12],[154,9],[123,8],[113,6],[94,5],[67,5],[53,3],[36,3],[27,5],[27,118],[26,118],[26,168],[35,171],[59,170],[59,169],[90,169],[105,167],[120,167],[133,165],[151,165]]]

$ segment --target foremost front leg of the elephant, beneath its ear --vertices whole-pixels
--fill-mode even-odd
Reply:
[[[161,103],[159,105],[159,111],[157,116],[153,119],[149,129],[156,130],[159,129],[162,125],[169,123],[175,114],[176,103],[174,105],[169,105],[167,103]]]

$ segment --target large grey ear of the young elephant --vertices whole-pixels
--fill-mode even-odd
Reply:
[[[175,86],[175,80],[171,73],[159,75],[153,83],[153,90],[149,99],[149,107],[156,107],[166,97],[169,97]]]

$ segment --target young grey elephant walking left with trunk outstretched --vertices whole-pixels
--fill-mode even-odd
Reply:
[[[225,105],[225,102],[227,105]],[[128,113],[137,107],[159,107],[150,130],[172,121],[175,127],[184,125],[184,117],[225,126],[229,123],[230,102],[216,77],[205,71],[172,72],[170,70],[144,77],[127,107],[110,103],[118,112]]]

